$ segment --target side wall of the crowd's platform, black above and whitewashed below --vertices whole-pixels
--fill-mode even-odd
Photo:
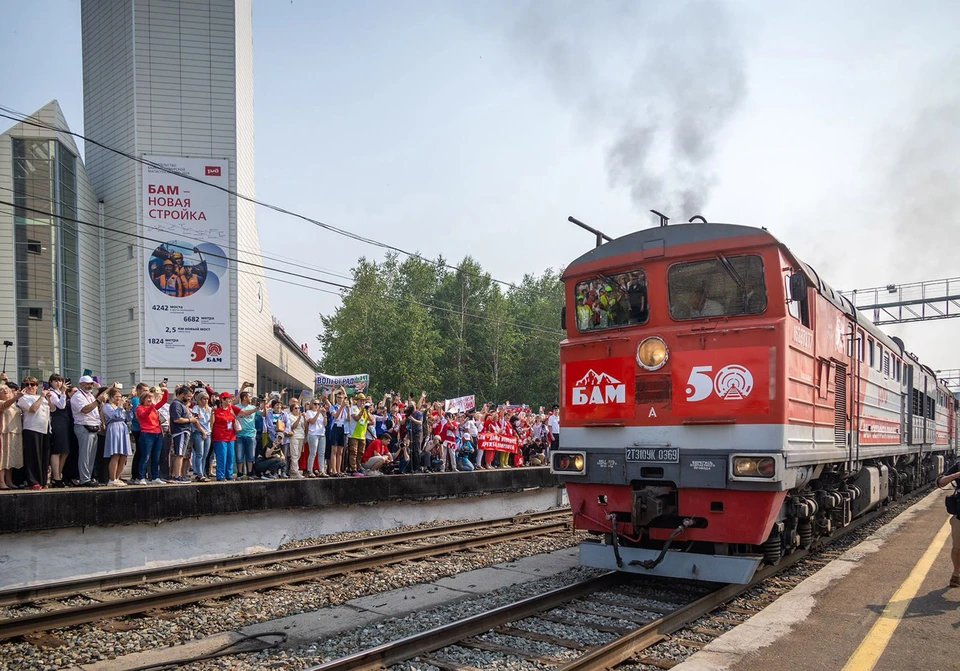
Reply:
[[[567,504],[546,467],[0,494],[0,589]],[[2,666],[2,664],[0,664]]]

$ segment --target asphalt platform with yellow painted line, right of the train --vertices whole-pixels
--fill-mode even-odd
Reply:
[[[960,588],[934,490],[676,671],[960,668]]]

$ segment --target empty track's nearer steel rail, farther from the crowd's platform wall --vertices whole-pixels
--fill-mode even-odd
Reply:
[[[48,631],[50,629],[86,624],[88,622],[123,615],[134,615],[158,608],[181,606],[198,601],[205,601],[207,599],[239,594],[241,592],[266,589],[277,585],[317,580],[415,559],[423,559],[425,557],[435,557],[484,545],[491,545],[493,543],[505,543],[532,536],[541,536],[562,531],[563,529],[569,528],[569,526],[569,520],[547,522],[527,529],[510,529],[474,538],[417,546],[393,552],[383,552],[368,557],[349,558],[311,566],[297,566],[271,573],[230,578],[220,583],[188,586],[182,589],[173,589],[138,597],[110,599],[85,606],[64,608],[45,613],[37,613],[35,615],[25,615],[23,617],[0,620],[0,640],[38,631]]]

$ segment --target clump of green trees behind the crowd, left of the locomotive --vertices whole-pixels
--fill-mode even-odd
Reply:
[[[536,408],[558,399],[563,284],[553,270],[504,292],[469,256],[360,259],[342,304],[321,315],[321,370],[369,373],[379,391],[475,394]]]

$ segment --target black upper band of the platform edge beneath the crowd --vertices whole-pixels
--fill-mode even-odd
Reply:
[[[17,491],[0,495],[0,534],[557,487],[546,466],[384,475]],[[0,541],[2,543],[2,541]]]

